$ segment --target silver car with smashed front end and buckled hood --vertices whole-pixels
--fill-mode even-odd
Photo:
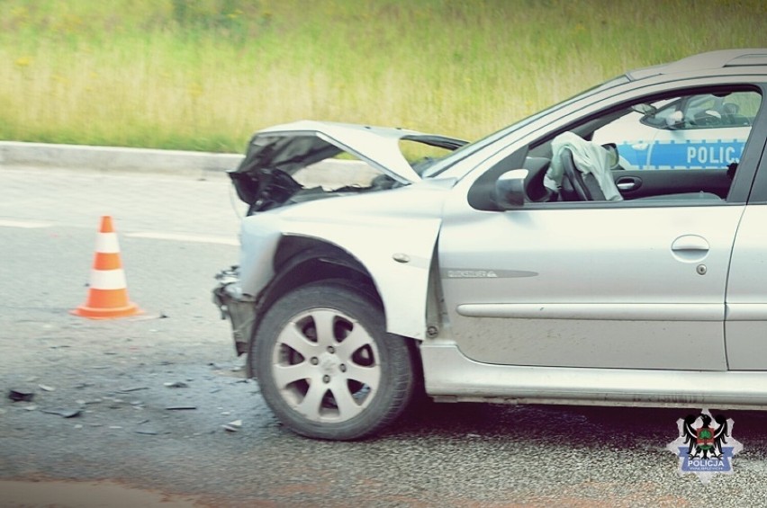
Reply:
[[[419,391],[767,408],[765,92],[767,49],[738,49],[627,72],[470,144],[258,132],[230,173],[249,206],[239,266],[214,290],[248,375],[288,428],[336,440]],[[663,116],[699,97],[712,111]],[[411,164],[403,141],[445,153]],[[645,145],[661,162],[631,163]]]

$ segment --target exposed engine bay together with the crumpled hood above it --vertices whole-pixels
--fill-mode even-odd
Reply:
[[[392,189],[420,180],[436,160],[409,163],[400,141],[447,151],[464,140],[413,130],[303,120],[257,132],[239,167],[229,172],[248,215],[277,207],[360,192]],[[346,153],[356,161],[333,157]],[[318,164],[321,163],[321,164]]]

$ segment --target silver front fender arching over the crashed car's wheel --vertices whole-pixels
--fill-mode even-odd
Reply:
[[[257,296],[275,277],[273,260],[282,237],[313,238],[344,250],[370,273],[383,301],[389,333],[425,338],[429,271],[442,203],[452,184],[435,180],[245,218],[242,292]]]

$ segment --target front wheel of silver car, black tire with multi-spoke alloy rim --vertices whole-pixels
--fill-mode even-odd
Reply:
[[[387,334],[380,303],[344,281],[312,283],[275,302],[248,361],[277,418],[317,439],[379,432],[402,414],[415,385],[406,339]]]

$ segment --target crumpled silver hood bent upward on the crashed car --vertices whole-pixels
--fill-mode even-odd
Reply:
[[[259,176],[275,170],[291,175],[303,167],[347,152],[403,184],[420,175],[402,155],[401,140],[455,150],[466,141],[410,129],[300,120],[259,130],[248,143],[239,167],[230,172],[239,198],[257,201]]]

